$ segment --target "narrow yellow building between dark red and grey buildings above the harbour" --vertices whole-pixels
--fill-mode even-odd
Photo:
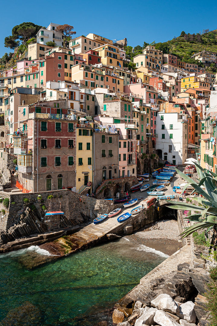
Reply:
[[[85,188],[92,192],[93,181],[93,123],[79,121],[76,129],[76,192],[81,193]]]

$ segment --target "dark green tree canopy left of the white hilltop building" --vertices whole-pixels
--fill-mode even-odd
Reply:
[[[5,37],[5,47],[15,49],[20,45],[19,40],[27,47],[27,40],[34,37],[42,26],[33,22],[23,22],[12,28],[12,35]]]

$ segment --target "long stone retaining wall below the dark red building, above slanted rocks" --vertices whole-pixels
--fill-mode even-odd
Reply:
[[[38,201],[38,195],[41,195],[43,203]],[[54,198],[47,200],[48,195],[53,195]],[[60,209],[64,212],[64,217],[71,220],[73,225],[79,224],[79,218],[81,218],[81,213],[85,216],[89,216],[90,219],[94,219],[99,214],[106,213],[108,206],[111,205],[110,200],[98,200],[95,198],[79,195],[68,189],[64,190],[54,190],[49,192],[41,193],[7,193],[0,191],[1,198],[9,198],[9,207],[4,207],[3,203],[0,203],[0,211],[4,209],[6,211],[5,216],[0,218],[0,229],[7,231],[14,224],[19,223],[19,216],[23,214],[26,205],[23,202],[24,198],[29,199],[29,205],[34,205],[37,212],[40,215],[41,220],[45,217],[45,212],[42,210],[42,204],[46,206],[47,209],[51,211],[56,211]],[[81,201],[79,200],[81,199]],[[12,204],[13,203],[13,204]],[[46,218],[47,220],[47,218]]]

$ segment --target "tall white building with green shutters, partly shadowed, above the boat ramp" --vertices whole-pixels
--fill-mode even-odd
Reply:
[[[183,164],[187,158],[187,115],[178,112],[160,111],[156,118],[156,152],[158,156],[173,164]]]

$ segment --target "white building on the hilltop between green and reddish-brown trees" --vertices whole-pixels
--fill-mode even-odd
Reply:
[[[63,46],[63,34],[56,31],[56,27],[59,24],[50,23],[50,25],[44,29],[41,28],[37,33],[37,43],[46,44],[48,41],[55,42],[57,46]]]

